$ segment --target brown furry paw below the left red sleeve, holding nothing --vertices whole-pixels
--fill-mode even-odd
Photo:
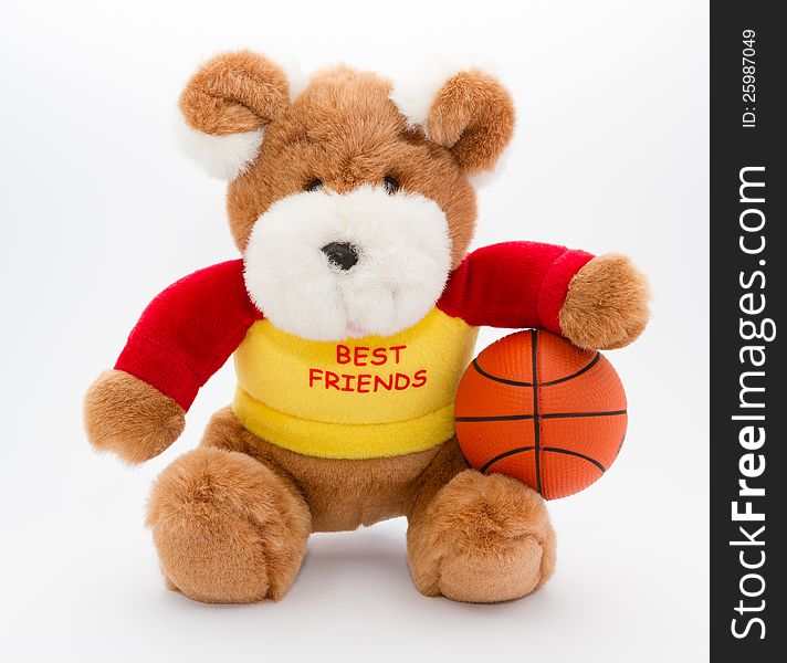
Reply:
[[[178,403],[122,370],[105,370],[93,382],[85,396],[84,421],[93,446],[135,464],[161,453],[186,425]]]

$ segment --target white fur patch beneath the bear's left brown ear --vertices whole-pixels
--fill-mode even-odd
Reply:
[[[176,138],[186,155],[208,175],[231,181],[256,158],[264,129],[214,136],[190,127],[179,115]]]

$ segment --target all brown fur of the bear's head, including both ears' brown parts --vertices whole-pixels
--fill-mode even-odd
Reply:
[[[491,76],[463,72],[439,92],[428,119],[434,140],[408,128],[388,98],[390,81],[346,66],[326,70],[290,105],[279,66],[242,51],[210,60],[180,97],[187,122],[224,135],[265,126],[256,160],[230,183],[230,228],[242,251],[270,206],[319,179],[338,192],[379,186],[388,175],[436,200],[448,218],[453,266],[475,228],[468,175],[491,168],[511,140],[514,107]]]

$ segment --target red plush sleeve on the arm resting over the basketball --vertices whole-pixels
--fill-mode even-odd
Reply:
[[[474,326],[537,327],[560,334],[558,314],[568,284],[592,257],[539,242],[483,246],[451,274],[437,306]]]

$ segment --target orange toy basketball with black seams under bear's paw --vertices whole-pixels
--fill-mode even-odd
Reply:
[[[626,435],[626,393],[600,352],[541,330],[483,350],[457,392],[457,435],[479,472],[523,481],[547,499],[587,488]]]

